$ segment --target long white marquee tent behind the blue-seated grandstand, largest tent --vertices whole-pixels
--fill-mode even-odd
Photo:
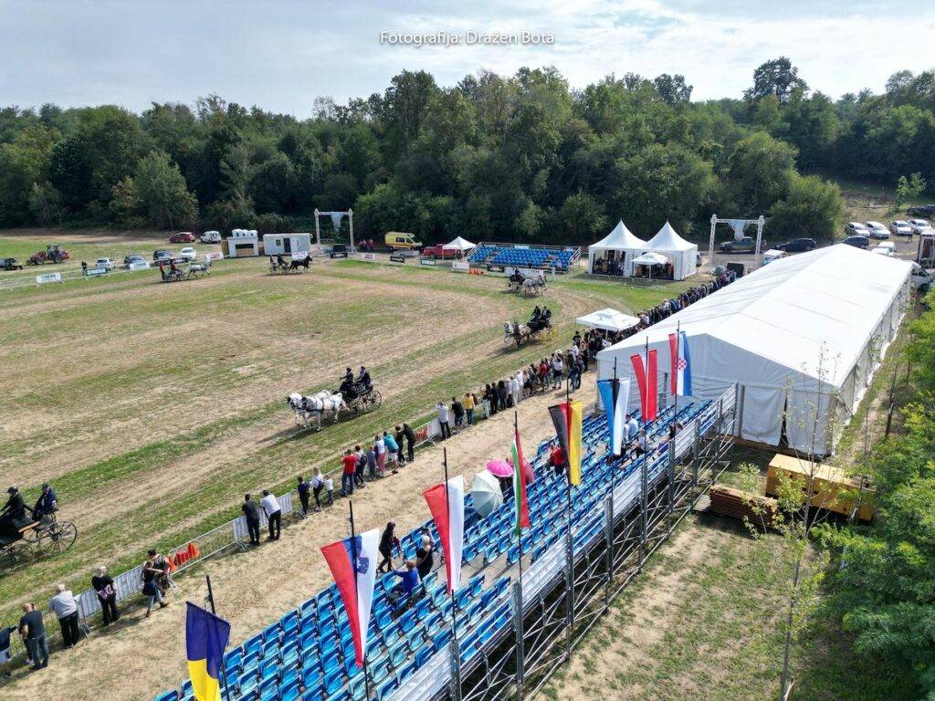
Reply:
[[[695,398],[738,385],[735,435],[827,454],[896,336],[911,270],[842,245],[774,261],[602,350],[598,377],[611,377],[614,359],[632,374],[630,356],[648,339],[663,387],[668,337],[681,326]]]

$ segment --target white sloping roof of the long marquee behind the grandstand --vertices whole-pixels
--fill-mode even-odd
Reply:
[[[647,339],[663,343],[681,324],[689,338],[709,336],[816,379],[824,348],[821,379],[841,387],[911,270],[909,261],[853,246],[799,253],[701,298],[598,358],[642,348]]]

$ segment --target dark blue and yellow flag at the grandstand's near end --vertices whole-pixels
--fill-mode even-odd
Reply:
[[[221,665],[231,624],[186,602],[185,652],[195,701],[221,701]]]

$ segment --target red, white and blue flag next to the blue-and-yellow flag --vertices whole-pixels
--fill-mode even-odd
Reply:
[[[348,613],[353,649],[359,667],[364,666],[373,585],[377,580],[377,563],[380,561],[377,551],[379,545],[380,530],[374,528],[322,548],[324,560],[331,568],[331,575],[338,584],[338,592]]]

